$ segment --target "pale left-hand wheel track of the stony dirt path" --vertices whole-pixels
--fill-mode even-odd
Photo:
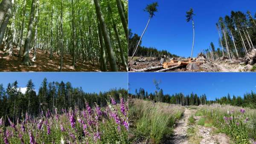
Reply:
[[[172,137],[172,140],[169,141],[169,144],[188,144],[186,130],[188,128],[188,119],[191,114],[191,109],[185,108],[183,117],[177,122],[177,127],[173,130],[174,136]]]

